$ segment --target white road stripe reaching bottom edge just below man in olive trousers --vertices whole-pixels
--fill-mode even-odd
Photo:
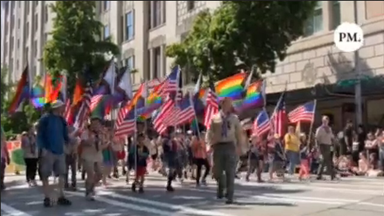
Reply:
[[[132,202],[137,202],[137,203],[143,203],[151,206],[157,206],[161,208],[169,208],[172,210],[177,210],[180,211],[182,214],[193,214],[193,215],[204,215],[204,216],[231,216],[230,214],[225,214],[225,213],[220,213],[220,212],[215,212],[215,211],[207,211],[207,210],[201,210],[197,208],[190,208],[182,205],[174,205],[174,204],[169,204],[169,203],[163,203],[159,201],[152,201],[149,199],[141,199],[141,198],[136,198],[132,196],[125,196],[122,194],[118,194],[115,192],[110,192],[110,191],[100,191],[98,192],[99,195],[105,195],[105,196],[111,196],[113,198],[119,198],[119,199],[125,199],[129,200]]]

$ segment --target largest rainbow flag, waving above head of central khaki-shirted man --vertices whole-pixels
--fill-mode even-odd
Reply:
[[[243,82],[247,73],[237,73],[233,76],[218,81],[215,85],[215,92],[218,98],[230,97],[233,101],[243,99]]]

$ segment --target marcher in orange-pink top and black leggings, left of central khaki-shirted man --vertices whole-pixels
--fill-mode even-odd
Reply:
[[[200,186],[200,177],[201,177],[201,168],[205,167],[205,173],[201,180],[201,183],[206,185],[206,178],[209,174],[209,161],[207,159],[207,146],[205,141],[200,139],[197,136],[192,137],[192,153],[195,158],[195,163],[197,165],[197,174],[196,174],[196,186]]]

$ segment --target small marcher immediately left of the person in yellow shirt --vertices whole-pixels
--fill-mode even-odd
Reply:
[[[283,145],[281,144],[280,137],[278,134],[275,134],[272,138],[274,144],[274,154],[273,158],[270,161],[269,167],[269,181],[273,180],[273,173],[276,173],[278,176],[281,176],[282,180],[285,181],[284,176],[284,164],[286,161]]]

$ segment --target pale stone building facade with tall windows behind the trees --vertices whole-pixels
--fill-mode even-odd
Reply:
[[[49,40],[55,16],[48,5],[54,1],[2,2],[1,63],[9,68],[9,80],[18,80],[23,67],[42,74],[43,45]],[[221,1],[98,1],[96,14],[103,23],[103,37],[113,36],[121,55],[121,65],[139,72],[141,80],[164,77],[172,64],[165,48],[185,38],[194,17],[203,9],[215,9]],[[356,78],[354,53],[343,53],[333,43],[333,31],[343,22],[355,22],[353,1],[319,1],[305,27],[305,36],[293,42],[275,73],[266,73],[268,100],[277,100],[287,90],[287,106],[318,98],[318,113],[333,116],[340,128],[347,118],[354,119],[353,86],[341,88],[341,80]],[[364,31],[359,50],[364,77],[384,76],[384,2],[358,1],[358,24]],[[184,74],[185,84],[191,78]],[[370,84],[367,84],[370,85]],[[382,85],[384,86],[384,85]],[[367,89],[366,89],[367,88]],[[364,122],[384,124],[384,89],[363,85]],[[273,105],[270,105],[273,107]]]

